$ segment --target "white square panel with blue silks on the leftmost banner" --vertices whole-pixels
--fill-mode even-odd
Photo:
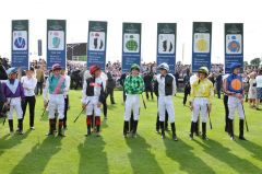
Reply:
[[[13,50],[27,50],[27,31],[13,32]]]

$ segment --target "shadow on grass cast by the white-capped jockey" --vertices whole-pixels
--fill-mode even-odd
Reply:
[[[180,164],[180,170],[193,174],[214,174],[215,172],[193,152],[193,148],[182,140],[177,142],[165,139],[166,155]]]

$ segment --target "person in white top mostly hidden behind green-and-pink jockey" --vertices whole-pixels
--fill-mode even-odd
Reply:
[[[69,109],[69,90],[70,90],[70,82],[71,78],[68,76],[68,72],[66,70],[61,70],[61,76],[66,79],[66,90],[64,90],[64,117],[63,117],[63,129],[67,129],[67,119],[68,119],[68,109]]]

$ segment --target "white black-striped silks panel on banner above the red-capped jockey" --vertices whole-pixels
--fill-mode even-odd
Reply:
[[[105,51],[105,32],[90,32],[90,50]]]

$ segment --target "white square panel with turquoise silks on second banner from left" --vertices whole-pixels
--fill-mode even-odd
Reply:
[[[64,49],[64,32],[63,31],[48,31],[48,49],[63,50]]]

